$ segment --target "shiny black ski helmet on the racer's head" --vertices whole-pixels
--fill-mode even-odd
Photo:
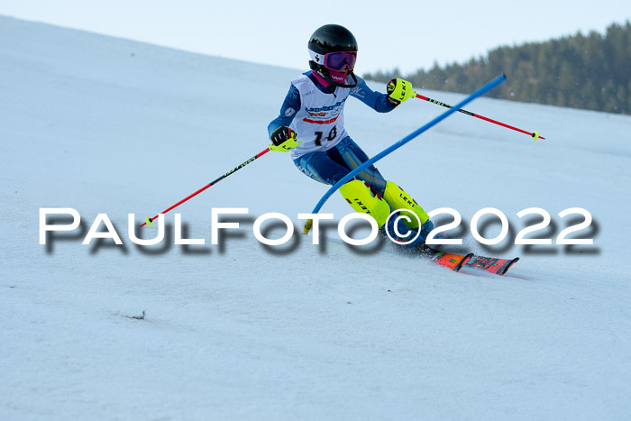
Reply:
[[[357,51],[357,40],[355,40],[351,31],[347,30],[342,25],[328,24],[321,26],[311,35],[307,43],[307,48],[311,56],[309,67],[325,78],[325,80],[338,87],[357,86],[357,78],[355,78],[355,74],[352,70],[349,71],[349,75],[353,78],[354,85],[343,85],[334,81],[329,75],[329,70],[321,64],[324,62],[324,55],[327,52]]]

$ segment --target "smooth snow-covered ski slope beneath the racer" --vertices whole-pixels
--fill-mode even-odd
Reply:
[[[255,217],[281,212],[298,230],[297,214],[326,190],[279,153],[178,208],[206,245],[173,245],[171,228],[139,247],[127,214],[155,215],[263,150],[299,70],[4,17],[0,40],[0,419],[631,413],[630,117],[481,98],[467,108],[548,140],[455,114],[380,161],[464,227],[493,206],[514,239],[526,226],[516,213],[537,206],[554,239],[568,225],[558,212],[593,215],[577,234],[594,245],[571,250],[485,248],[467,234],[471,250],[521,256],[504,278],[453,273],[387,243],[356,250],[334,228],[321,246],[301,235],[262,246]],[[416,101],[376,114],[349,100],[347,129],[374,155],[443,111]],[[82,232],[40,245],[41,207],[77,209]],[[250,215],[211,245],[218,207]],[[337,194],[324,209],[337,220],[349,210]],[[99,213],[123,246],[81,244]]]

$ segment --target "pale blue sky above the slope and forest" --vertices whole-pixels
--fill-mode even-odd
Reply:
[[[628,0],[520,3],[0,0],[0,14],[294,69],[306,69],[315,28],[339,23],[357,38],[360,74],[462,62],[499,45],[604,32],[631,20]]]

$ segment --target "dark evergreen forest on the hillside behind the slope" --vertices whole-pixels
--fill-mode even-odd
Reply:
[[[419,69],[404,78],[415,87],[469,93],[499,73],[508,81],[490,96],[539,104],[631,114],[631,23],[605,33],[577,33],[545,42],[503,46],[466,64]],[[398,69],[366,74],[387,82]]]

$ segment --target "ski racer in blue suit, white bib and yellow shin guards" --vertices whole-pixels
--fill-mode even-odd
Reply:
[[[327,24],[318,28],[307,45],[311,70],[291,82],[279,116],[268,126],[270,150],[291,151],[298,169],[316,181],[334,185],[369,159],[344,130],[343,108],[348,96],[354,96],[378,113],[389,113],[416,94],[411,83],[401,78],[389,81],[389,94],[371,90],[353,73],[357,41],[343,26]],[[388,229],[400,243],[416,235],[420,221],[420,234],[407,244],[407,249],[420,248],[434,228],[416,200],[383,178],[374,166],[345,183],[340,193],[355,212],[371,215],[382,231]],[[391,217],[385,227],[391,212],[401,208],[413,212],[418,219],[402,221]],[[398,233],[407,233],[406,236],[397,236],[396,220]]]

